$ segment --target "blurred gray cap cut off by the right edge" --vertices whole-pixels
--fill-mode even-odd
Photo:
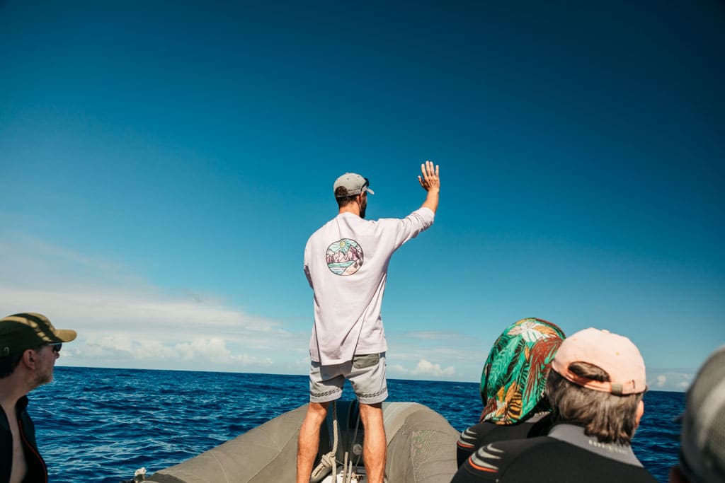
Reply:
[[[679,466],[692,483],[725,482],[725,345],[687,390]]]

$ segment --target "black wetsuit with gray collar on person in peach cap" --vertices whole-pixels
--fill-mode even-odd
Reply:
[[[491,442],[463,463],[452,483],[624,483],[657,480],[629,445],[597,442],[584,428],[556,424],[549,436]]]

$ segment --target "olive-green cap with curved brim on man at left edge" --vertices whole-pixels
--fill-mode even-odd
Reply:
[[[75,336],[75,330],[56,329],[42,314],[10,315],[0,319],[0,357],[42,344],[70,342]]]

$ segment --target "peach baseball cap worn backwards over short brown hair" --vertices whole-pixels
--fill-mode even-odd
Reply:
[[[569,370],[573,362],[587,362],[599,366],[610,377],[610,382],[581,377]],[[580,330],[564,339],[551,368],[574,384],[589,389],[611,392],[613,395],[638,394],[647,390],[645,361],[639,349],[628,338],[608,330]]]

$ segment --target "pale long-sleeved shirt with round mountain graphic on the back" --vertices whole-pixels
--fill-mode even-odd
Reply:
[[[377,221],[341,213],[312,234],[305,246],[305,274],[315,293],[312,361],[341,364],[387,350],[380,310],[390,257],[434,217],[428,208]]]

